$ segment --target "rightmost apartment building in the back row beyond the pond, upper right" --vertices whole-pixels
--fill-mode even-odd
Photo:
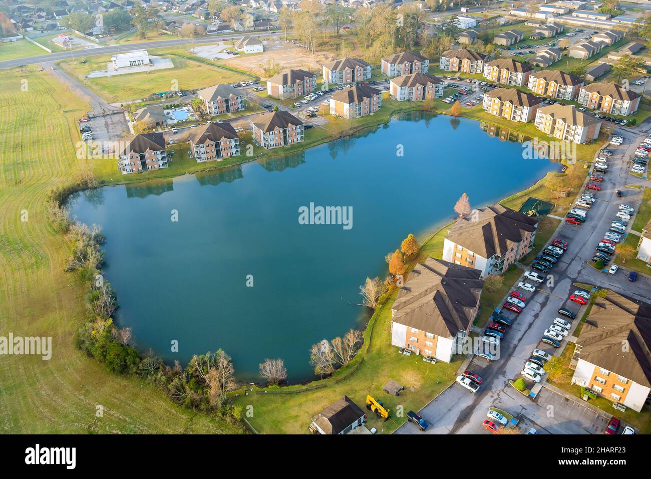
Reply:
[[[615,83],[590,83],[581,87],[577,102],[607,115],[633,115],[640,106],[640,95]]]

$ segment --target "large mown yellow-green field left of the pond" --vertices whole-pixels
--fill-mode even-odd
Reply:
[[[0,431],[234,432],[177,407],[153,386],[109,373],[73,345],[85,314],[83,288],[62,270],[66,246],[46,219],[45,201],[49,188],[79,175],[72,139],[75,119],[87,109],[47,72],[0,73],[0,328],[14,336],[51,336],[53,345],[50,360],[3,356]]]

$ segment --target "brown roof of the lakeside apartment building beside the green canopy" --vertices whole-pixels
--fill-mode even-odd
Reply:
[[[525,232],[536,231],[533,218],[499,203],[478,209],[477,215],[459,218],[450,228],[447,239],[484,258],[502,256],[512,244],[520,242]]]

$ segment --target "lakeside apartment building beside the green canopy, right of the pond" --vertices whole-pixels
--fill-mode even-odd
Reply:
[[[540,110],[538,110],[540,111]],[[443,259],[501,274],[531,251],[538,220],[499,203],[458,218],[443,240]]]

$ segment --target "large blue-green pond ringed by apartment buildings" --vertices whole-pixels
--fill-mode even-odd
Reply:
[[[464,192],[480,207],[560,169],[523,159],[523,145],[505,139],[522,138],[413,112],[292,156],[99,188],[69,206],[102,225],[116,321],[139,349],[185,364],[222,348],[247,381],[260,380],[265,358],[283,358],[289,379],[303,381],[313,343],[365,326],[359,285],[387,274],[385,254],[408,233],[452,220]],[[299,222],[311,203],[350,217]]]

